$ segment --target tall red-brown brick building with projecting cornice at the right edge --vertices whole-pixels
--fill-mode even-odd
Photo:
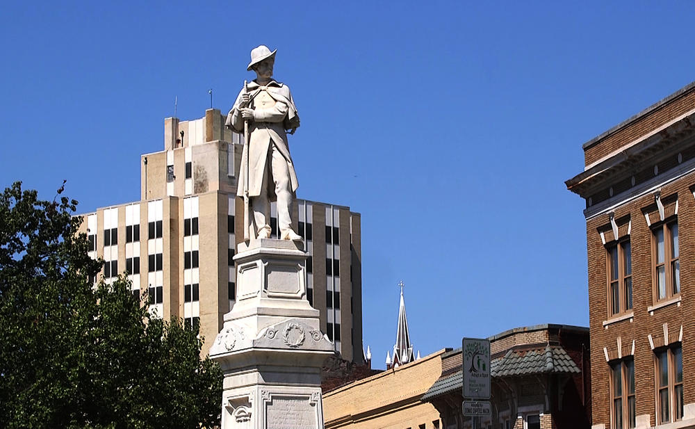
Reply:
[[[695,427],[695,83],[583,149],[594,428]]]

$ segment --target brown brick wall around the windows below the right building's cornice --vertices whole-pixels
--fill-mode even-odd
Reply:
[[[650,314],[648,307],[655,304],[652,289],[652,232],[644,218],[643,209],[654,204],[653,194],[644,195],[615,209],[615,218],[630,216],[632,248],[632,302],[633,318],[610,323],[607,327],[607,254],[597,229],[605,227],[608,214],[587,221],[587,256],[589,268],[589,330],[591,335],[591,391],[594,424],[603,423],[610,428],[609,370],[604,348],[610,359],[631,353],[635,341],[636,414],[649,414],[655,424],[655,359],[648,341],[651,334],[656,347],[664,345],[663,325],[668,324],[669,340],[678,339],[683,327],[684,403],[695,402],[695,379],[689,377],[695,369],[695,353],[689,338],[695,335],[693,303],[685,298],[694,293],[695,253],[695,199],[690,186],[695,185],[695,174],[664,185],[661,195],[678,194],[678,235],[680,241],[680,285],[682,302]],[[688,316],[689,315],[689,316]],[[621,350],[618,350],[618,338]]]

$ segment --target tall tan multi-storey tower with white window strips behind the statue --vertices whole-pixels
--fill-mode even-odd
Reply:
[[[85,213],[90,256],[104,259],[104,280],[126,273],[133,293],[149,296],[164,318],[199,325],[208,339],[234,305],[234,252],[243,240],[243,200],[236,197],[243,137],[224,116],[164,122],[164,150],[140,156],[140,200]],[[301,172],[300,172],[301,173]],[[301,177],[300,177],[301,179]],[[363,362],[360,215],[349,207],[295,200],[293,228],[304,237],[307,298],[322,331],[344,359]],[[277,212],[271,204],[272,238]]]

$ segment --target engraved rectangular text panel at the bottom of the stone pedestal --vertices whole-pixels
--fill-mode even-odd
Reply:
[[[309,398],[273,396],[265,408],[268,429],[316,429],[316,406]]]

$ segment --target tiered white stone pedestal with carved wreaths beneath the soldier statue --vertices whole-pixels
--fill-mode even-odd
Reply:
[[[222,429],[323,428],[320,369],[334,353],[306,300],[302,243],[239,245],[236,303],[210,349],[224,373]]]

